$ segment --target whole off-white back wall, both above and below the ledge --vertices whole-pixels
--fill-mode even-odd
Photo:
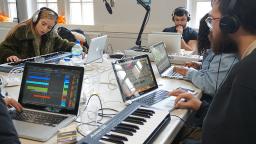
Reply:
[[[29,3],[30,0],[27,0]],[[69,28],[81,28],[91,36],[107,34],[109,44],[114,51],[123,51],[135,46],[135,41],[140,30],[146,10],[137,4],[137,0],[115,0],[113,14],[110,15],[102,0],[94,0],[95,26],[69,25]],[[151,15],[142,36],[142,45],[147,45],[147,33],[162,31],[167,26],[172,26],[171,13],[179,6],[186,6],[187,0],[152,0]],[[0,23],[0,41],[6,31],[13,25]],[[6,29],[8,28],[8,30]]]

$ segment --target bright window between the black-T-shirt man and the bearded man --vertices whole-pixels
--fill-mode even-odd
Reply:
[[[212,9],[211,0],[188,0],[188,5],[192,17],[191,26],[199,28],[201,18]]]

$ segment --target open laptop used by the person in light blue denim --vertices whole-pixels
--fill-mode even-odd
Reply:
[[[184,79],[184,76],[173,71],[169,61],[164,42],[159,42],[150,46],[157,70],[161,77]]]

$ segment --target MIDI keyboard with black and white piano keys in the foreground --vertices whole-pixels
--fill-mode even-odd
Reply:
[[[78,144],[148,144],[170,122],[170,113],[132,103]]]

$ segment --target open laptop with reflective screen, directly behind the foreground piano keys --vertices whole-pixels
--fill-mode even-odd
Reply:
[[[168,91],[158,89],[148,55],[117,60],[112,67],[126,104],[138,102],[168,111],[174,108],[175,98]]]

